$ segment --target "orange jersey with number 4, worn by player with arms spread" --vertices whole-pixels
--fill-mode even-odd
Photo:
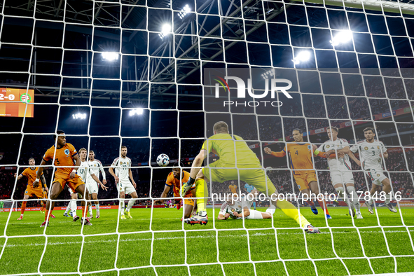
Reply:
[[[287,144],[283,149],[284,153],[289,153],[290,167],[294,174],[308,174],[313,170],[312,146],[310,144]]]

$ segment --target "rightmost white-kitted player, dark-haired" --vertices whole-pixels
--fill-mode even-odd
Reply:
[[[388,158],[387,148],[380,141],[375,141],[375,131],[372,127],[366,127],[364,129],[365,140],[358,142],[356,145],[352,146],[351,151],[356,153],[359,151],[358,160],[355,156],[350,155],[350,158],[354,160],[359,166],[362,167],[362,170],[368,174],[368,177],[371,178],[373,186],[371,188],[371,196],[375,192],[380,192],[381,186],[382,191],[385,192],[385,202],[384,205],[387,206],[389,211],[396,213],[397,210],[394,206],[391,205],[390,201],[390,192],[391,192],[391,183],[389,182],[388,177],[383,173],[382,167],[382,157],[385,159]],[[368,211],[373,214],[373,200],[372,198],[366,202]]]

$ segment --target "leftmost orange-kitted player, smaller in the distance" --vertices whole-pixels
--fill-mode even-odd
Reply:
[[[37,188],[33,188],[33,182],[36,179],[36,172],[39,170],[39,167],[35,167],[34,158],[29,159],[30,167],[27,167],[21,174],[15,174],[15,178],[18,177],[18,180],[22,179],[22,177],[27,177],[27,187],[25,191],[25,196],[23,200],[28,200],[32,195],[36,195],[36,198],[46,198],[46,193],[48,192],[48,187],[46,186],[46,179],[43,173],[41,174],[41,181],[42,185],[38,186]],[[41,205],[43,209],[44,201],[41,200]],[[25,214],[27,201],[22,202],[22,210],[20,212],[20,217],[18,221],[23,219],[23,215]],[[55,216],[52,216],[55,218]]]

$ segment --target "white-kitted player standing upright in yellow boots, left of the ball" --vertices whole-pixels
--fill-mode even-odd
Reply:
[[[118,193],[120,197],[119,209],[120,209],[120,219],[132,219],[131,216],[131,208],[134,206],[135,201],[138,198],[137,191],[135,188],[137,184],[132,177],[131,171],[132,162],[130,158],[127,158],[127,147],[121,146],[120,147],[120,157],[115,158],[111,167],[109,168],[109,173],[115,178],[116,188],[118,188]],[[113,172],[115,169],[115,172]],[[132,184],[131,184],[131,181]],[[127,209],[125,209],[125,193],[127,195],[131,195],[132,199],[128,202]],[[127,216],[127,218],[125,217]]]

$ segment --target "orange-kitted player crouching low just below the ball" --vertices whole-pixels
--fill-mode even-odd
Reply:
[[[165,182],[164,191],[161,194],[161,198],[167,198],[168,192],[170,192],[170,189],[172,188],[172,191],[174,191],[174,198],[175,203],[177,203],[177,209],[180,209],[181,206],[181,199],[180,196],[180,188],[183,183],[186,183],[188,181],[188,177],[190,177],[190,173],[186,172],[185,170],[182,170],[179,167],[183,167],[183,163],[175,163],[174,167],[172,168],[172,172],[168,174],[167,181]],[[193,186],[186,195],[184,196],[184,219],[187,219],[191,216],[194,209],[194,199],[195,195],[193,194],[195,186]],[[156,204],[162,204],[163,200],[156,200]]]

